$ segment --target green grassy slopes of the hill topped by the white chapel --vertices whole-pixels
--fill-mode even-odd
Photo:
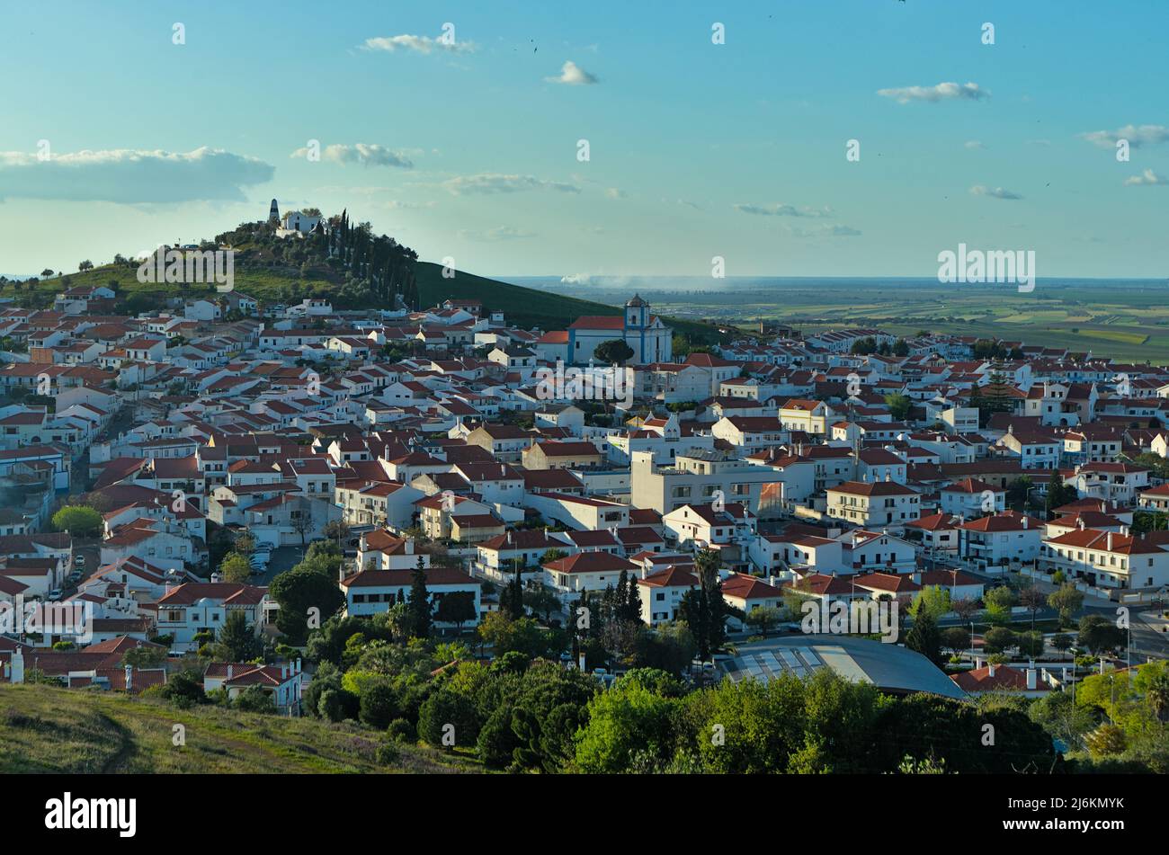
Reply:
[[[300,278],[299,270],[261,264],[238,263],[235,267],[235,289],[248,293],[264,303],[279,303],[291,297],[310,294],[327,296],[339,287],[340,278],[327,267],[318,267],[306,278]],[[621,306],[609,306],[603,303],[581,300],[575,297],[551,294],[546,291],[525,289],[519,285],[487,279],[473,273],[456,271],[451,279],[442,276],[442,265],[419,262],[416,266],[419,296],[423,306],[435,306],[447,298],[482,300],[484,307],[503,310],[509,322],[523,327],[538,326],[541,329],[563,329],[576,318],[584,314],[620,315]],[[159,300],[182,293],[187,297],[214,294],[213,286],[191,285],[180,291],[177,285],[143,284],[138,281],[137,267],[106,264],[84,273],[69,273],[68,287],[96,286],[117,284],[117,292],[126,298],[140,296],[143,299]],[[44,279],[32,287],[14,290],[12,285],[4,289],[4,297],[15,297],[21,305],[47,307],[53,298],[67,287],[62,277]],[[141,307],[133,306],[136,311]],[[340,305],[339,307],[344,307]],[[692,342],[711,345],[719,340],[718,331],[706,324],[693,321],[665,321],[677,333],[684,333]]]

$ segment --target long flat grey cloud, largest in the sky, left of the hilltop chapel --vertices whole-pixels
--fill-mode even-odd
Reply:
[[[275,167],[222,148],[191,152],[81,151],[41,161],[0,152],[0,199],[50,199],[120,204],[245,201],[244,188],[272,180]]]

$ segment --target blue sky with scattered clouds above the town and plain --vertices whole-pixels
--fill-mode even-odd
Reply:
[[[276,197],[486,276],[1169,277],[1165,0],[274,8],[2,0],[0,272]]]

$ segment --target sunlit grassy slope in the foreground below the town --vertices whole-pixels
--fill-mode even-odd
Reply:
[[[186,745],[172,744],[175,724]],[[0,774],[27,772],[471,772],[470,762],[402,746],[375,760],[379,735],[357,725],[49,686],[0,688]]]

